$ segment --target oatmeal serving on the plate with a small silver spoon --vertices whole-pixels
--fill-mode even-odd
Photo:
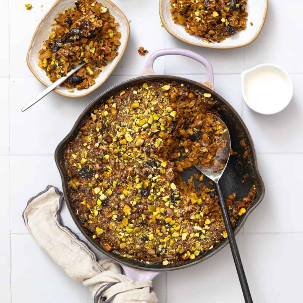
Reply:
[[[95,78],[118,55],[121,33],[108,8],[94,0],[78,0],[55,18],[52,32],[39,51],[39,67],[52,82],[85,62],[62,86],[78,90],[95,84]]]

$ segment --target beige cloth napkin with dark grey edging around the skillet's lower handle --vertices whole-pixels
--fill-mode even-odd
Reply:
[[[152,281],[133,281],[112,260],[97,261],[88,246],[62,225],[62,202],[62,192],[53,186],[28,201],[24,222],[41,248],[71,278],[88,286],[94,303],[158,302]]]

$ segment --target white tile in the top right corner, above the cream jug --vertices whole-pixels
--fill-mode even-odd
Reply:
[[[244,70],[261,63],[272,63],[288,72],[302,73],[303,58],[299,53],[303,44],[298,39],[301,22],[294,15],[302,9],[303,2],[298,0],[269,1],[262,32],[255,42],[244,48]]]

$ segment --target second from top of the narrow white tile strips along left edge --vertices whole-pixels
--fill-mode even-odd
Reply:
[[[1,52],[0,52],[1,53]],[[0,155],[8,155],[9,151],[9,122],[8,122],[8,78],[0,78],[0,102],[1,102],[1,119],[0,119]]]

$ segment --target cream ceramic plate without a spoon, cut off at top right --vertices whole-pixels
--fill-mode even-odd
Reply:
[[[267,14],[268,0],[248,0],[246,11],[248,12],[248,21],[246,28],[243,31],[236,32],[229,38],[218,43],[207,44],[202,41],[202,38],[195,35],[189,35],[185,32],[185,27],[181,24],[175,24],[171,19],[171,2],[170,0],[160,0],[159,13],[163,26],[175,38],[191,45],[197,45],[208,48],[238,48],[253,42],[261,32]],[[253,25],[250,25],[250,22]]]

